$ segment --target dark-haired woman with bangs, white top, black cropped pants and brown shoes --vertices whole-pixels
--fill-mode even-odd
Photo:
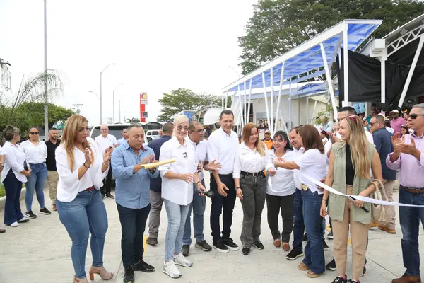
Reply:
[[[268,225],[273,237],[273,244],[276,248],[283,243],[283,250],[290,250],[290,235],[293,231],[293,216],[295,202],[295,179],[294,172],[284,168],[274,167],[274,161],[283,158],[286,161],[293,161],[293,147],[288,140],[287,134],[278,131],[274,134],[273,148],[268,151],[266,168],[269,179],[266,186],[266,208]],[[283,231],[278,230],[278,215],[283,219]]]

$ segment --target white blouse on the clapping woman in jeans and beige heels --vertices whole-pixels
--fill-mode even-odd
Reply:
[[[64,144],[56,149],[56,166],[59,174],[59,183],[57,183],[57,200],[61,202],[71,202],[76,198],[78,192],[82,192],[89,187],[95,187],[100,190],[103,185],[103,179],[107,175],[106,170],[102,173],[103,154],[98,149],[97,144],[90,142],[90,151],[93,151],[94,161],[81,179],[78,179],[78,168],[86,162],[86,154],[77,149],[73,149],[73,168],[69,167],[68,154]]]

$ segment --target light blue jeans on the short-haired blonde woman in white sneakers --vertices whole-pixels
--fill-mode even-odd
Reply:
[[[174,260],[174,255],[181,253],[182,234],[189,212],[189,205],[179,205],[170,200],[163,200],[168,218],[165,235],[165,261]]]

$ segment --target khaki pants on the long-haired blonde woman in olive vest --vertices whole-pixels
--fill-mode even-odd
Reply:
[[[346,194],[351,195],[352,187],[346,186]],[[353,221],[352,209],[355,204],[346,198],[343,221],[331,219],[334,234],[334,260],[336,260],[338,275],[346,274],[348,256],[348,233],[351,226],[352,243],[352,273],[353,279],[359,279],[363,274],[365,251],[367,250],[368,225]]]

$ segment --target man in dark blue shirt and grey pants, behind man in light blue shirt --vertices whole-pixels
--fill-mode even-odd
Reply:
[[[174,125],[171,122],[165,123],[163,125],[163,133],[159,139],[153,139],[153,141],[148,143],[148,147],[153,149],[155,152],[156,159],[160,158],[160,148],[166,141],[169,141],[172,137],[172,131],[174,130]],[[148,238],[146,243],[148,245],[158,245],[158,233],[159,233],[159,224],[160,224],[160,211],[162,210],[163,199],[162,199],[162,178],[158,176],[151,180],[151,212],[148,217]]]

